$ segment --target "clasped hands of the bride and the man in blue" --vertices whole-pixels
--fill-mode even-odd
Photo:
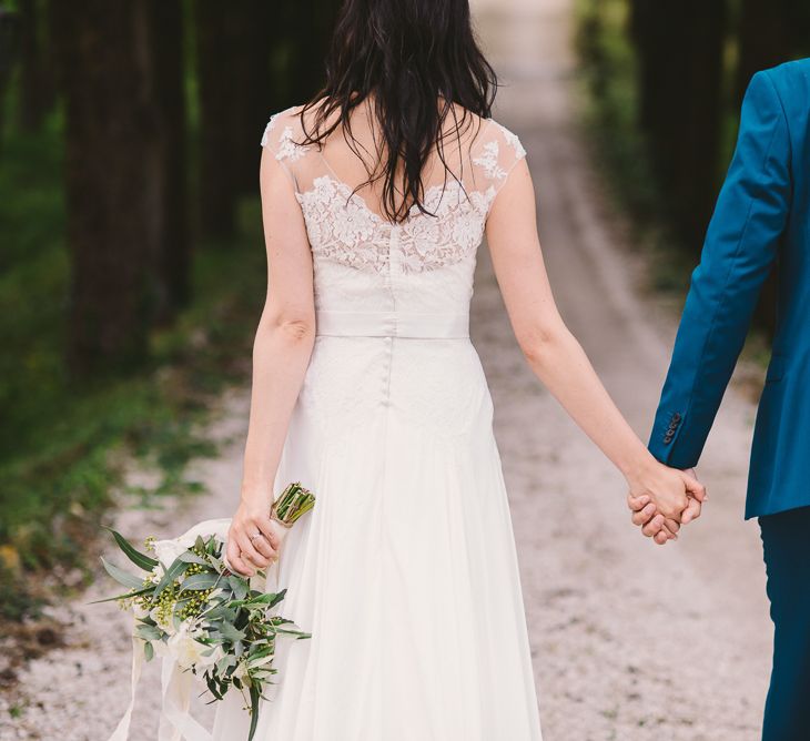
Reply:
[[[628,478],[627,504],[632,524],[659,546],[676,540],[681,525],[700,517],[707,498],[706,487],[695,469],[678,470],[658,461],[650,463],[638,476]]]

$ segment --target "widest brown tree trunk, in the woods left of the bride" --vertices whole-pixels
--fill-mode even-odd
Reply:
[[[145,357],[164,293],[164,149],[149,0],[54,3],[67,101],[69,366],[78,377]]]

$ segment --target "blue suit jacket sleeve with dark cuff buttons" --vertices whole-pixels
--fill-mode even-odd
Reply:
[[[768,72],[746,92],[731,165],[692,273],[649,441],[660,461],[696,466],[776,258],[791,200],[790,140]]]

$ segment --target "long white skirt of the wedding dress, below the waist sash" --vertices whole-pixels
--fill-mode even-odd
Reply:
[[[280,641],[259,741],[540,741],[493,405],[468,338],[320,335],[275,491],[315,508],[269,588]],[[217,741],[247,738],[239,692]]]

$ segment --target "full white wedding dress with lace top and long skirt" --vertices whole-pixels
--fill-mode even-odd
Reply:
[[[317,501],[275,575],[281,612],[312,638],[281,644],[259,741],[540,740],[493,405],[468,334],[476,251],[525,152],[493,120],[462,140],[445,159],[464,187],[434,168],[435,215],[413,209],[393,225],[352,193],[365,171],[340,130],[323,151],[301,146],[291,109],[262,139],[301,204],[317,322],[275,491],[298,480]],[[220,706],[214,739],[246,739],[239,693]]]

